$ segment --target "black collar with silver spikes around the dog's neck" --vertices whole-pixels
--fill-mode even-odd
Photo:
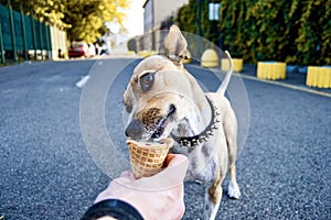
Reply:
[[[213,102],[207,97],[205,98],[212,110],[211,122],[200,134],[193,136],[177,136],[175,134],[170,133],[171,138],[181,146],[196,146],[199,144],[202,144],[206,142],[212,135],[214,135],[214,131],[218,129],[216,123],[220,122],[220,120],[217,119],[220,112],[217,112],[217,109],[213,105]]]

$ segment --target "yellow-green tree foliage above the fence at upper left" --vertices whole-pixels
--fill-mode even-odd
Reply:
[[[70,41],[86,43],[94,43],[108,32],[107,22],[122,25],[125,13],[120,9],[128,7],[128,0],[11,0],[17,10],[20,3],[24,13],[32,12],[40,21],[66,30]]]

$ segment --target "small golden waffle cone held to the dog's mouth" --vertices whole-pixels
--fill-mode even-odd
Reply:
[[[127,140],[130,153],[130,165],[136,178],[149,177],[162,170],[163,162],[172,139],[163,139],[161,143],[136,142]]]

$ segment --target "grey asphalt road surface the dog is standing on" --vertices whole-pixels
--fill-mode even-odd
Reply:
[[[121,96],[135,64],[0,68],[0,217],[79,219],[109,176],[127,168],[127,161],[109,162],[114,155],[98,151],[107,139],[124,146]],[[213,74],[189,68],[209,89],[220,84]],[[86,86],[76,87],[88,74]],[[237,161],[242,198],[228,199],[226,178],[217,219],[331,219],[331,98],[246,78],[244,85],[250,117]],[[125,147],[118,152],[127,155]],[[200,185],[185,184],[184,219],[202,219],[203,194]]]

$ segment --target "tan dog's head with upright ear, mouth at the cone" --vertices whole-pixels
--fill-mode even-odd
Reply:
[[[163,55],[147,57],[138,64],[124,95],[129,113],[126,135],[135,140],[163,139],[199,120],[194,117],[197,107],[192,103],[196,81],[182,64],[186,41],[175,25],[163,46]]]

